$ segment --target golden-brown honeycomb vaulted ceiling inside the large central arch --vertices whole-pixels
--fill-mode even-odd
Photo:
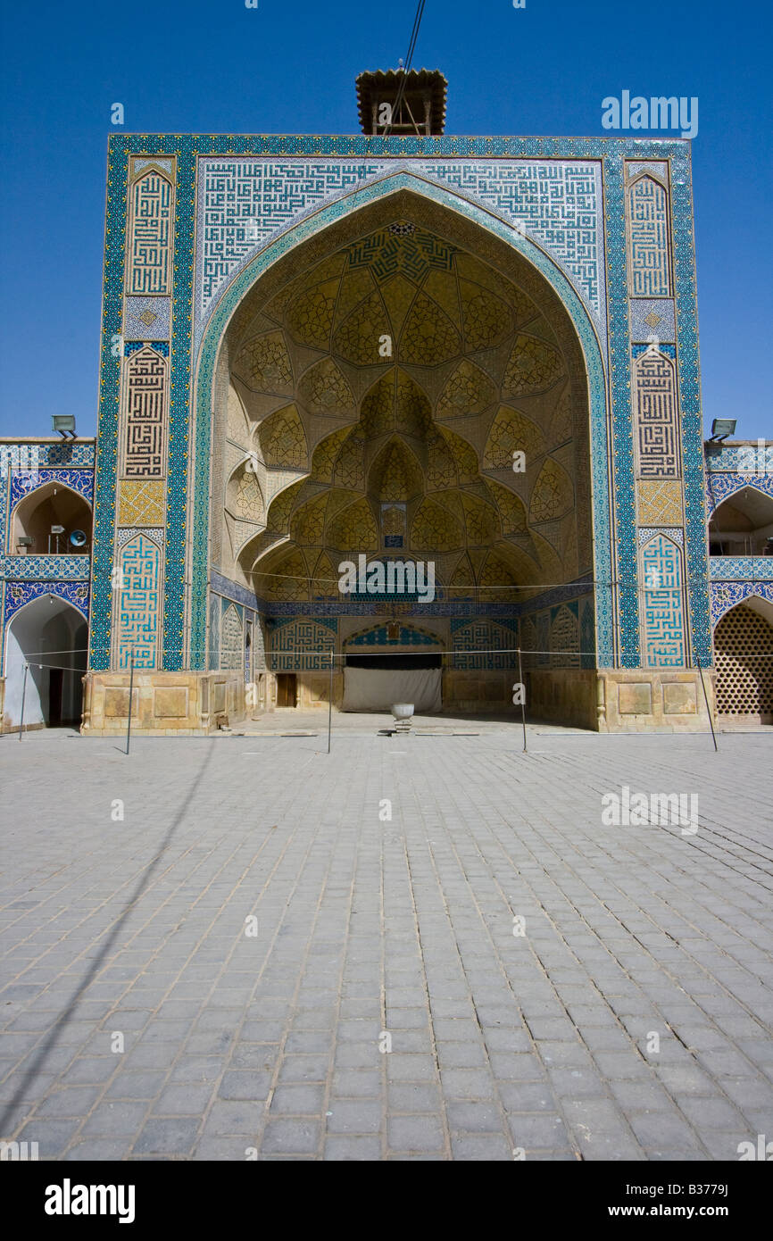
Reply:
[[[230,359],[228,530],[263,597],[337,597],[386,549],[437,555],[454,598],[577,575],[570,369],[480,258],[395,220],[241,308]]]

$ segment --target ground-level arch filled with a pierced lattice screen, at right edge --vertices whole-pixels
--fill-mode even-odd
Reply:
[[[773,724],[773,606],[749,598],[713,633],[716,709],[725,724]]]

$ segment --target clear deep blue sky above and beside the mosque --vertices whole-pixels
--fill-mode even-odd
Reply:
[[[0,434],[97,424],[107,135],[356,133],[355,77],[396,67],[414,0],[6,5],[0,79]],[[769,4],[427,0],[414,66],[447,133],[609,137],[602,99],[697,96],[704,413],[773,437]]]

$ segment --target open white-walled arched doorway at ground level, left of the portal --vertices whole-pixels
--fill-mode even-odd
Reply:
[[[14,616],[7,628],[4,731],[81,722],[88,625],[83,614],[57,594],[40,594]],[[29,671],[24,676],[25,664]]]

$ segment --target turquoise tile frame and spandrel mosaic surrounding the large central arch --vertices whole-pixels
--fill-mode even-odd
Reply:
[[[114,135],[108,159],[104,314],[99,457],[96,493],[92,666],[107,668],[110,648],[110,566],[118,416],[118,359],[110,351],[120,334],[123,248],[129,155],[159,156],[175,176],[174,288],[169,424],[168,530],[164,596],[164,666],[205,666],[208,556],[208,388],[218,340],[235,304],[269,262],[316,230],[383,192],[385,177],[437,202],[450,205],[506,238],[548,277],[570,309],[581,339],[592,395],[596,629],[602,665],[639,666],[639,589],[633,511],[634,465],[630,421],[630,333],[624,223],[624,160],[656,160],[670,176],[676,356],[685,469],[686,578],[694,656],[710,658],[707,563],[700,386],[695,311],[695,262],[689,144],[670,139],[542,138],[366,138],[243,135]],[[207,164],[210,181],[196,175]],[[208,163],[207,163],[208,161]],[[277,217],[262,221],[257,240],[242,236],[256,201],[268,202],[256,168],[279,163],[285,186],[318,165],[339,176],[339,197],[325,200],[330,181],[309,184],[289,211],[280,190]],[[344,166],[344,161],[349,161]],[[349,181],[362,161],[359,189]],[[498,163],[499,161],[499,163]],[[522,161],[521,165],[514,161]],[[225,168],[218,168],[223,165]],[[337,171],[336,171],[337,165]],[[386,165],[383,168],[382,165]],[[230,170],[242,171],[232,177]],[[392,176],[391,176],[392,175]],[[328,176],[328,174],[325,174]],[[370,181],[369,181],[370,176]],[[543,186],[537,185],[542,177]],[[217,184],[220,179],[220,187]],[[552,179],[552,180],[551,180]],[[308,180],[308,177],[306,177]],[[517,186],[537,185],[531,216]],[[542,187],[563,184],[563,217],[553,233],[541,212]],[[567,215],[566,186],[577,187],[574,215]],[[239,186],[249,186],[249,194]],[[223,189],[225,186],[225,189]],[[221,210],[220,237],[195,251],[197,201],[215,211],[217,194],[233,191]],[[316,195],[316,197],[315,197]],[[199,199],[201,196],[201,199]],[[208,197],[207,197],[208,196]],[[309,215],[309,212],[311,212]],[[586,238],[579,222],[586,222]],[[603,221],[603,228],[602,228]],[[516,227],[516,225],[519,227]],[[199,236],[203,220],[199,217]],[[252,227],[252,226],[247,226]],[[273,237],[273,241],[270,240]],[[572,240],[573,238],[573,240]],[[579,241],[578,241],[579,238]],[[249,244],[247,244],[249,242]],[[251,257],[254,246],[259,254]],[[220,247],[220,249],[218,249]],[[225,254],[225,259],[222,256]],[[225,262],[225,269],[218,268]],[[200,285],[196,285],[199,264]],[[205,302],[207,303],[205,305]],[[205,313],[210,315],[203,323]],[[194,329],[201,319],[202,345],[194,357]],[[608,350],[608,352],[607,352]],[[192,375],[197,385],[194,400]],[[613,494],[607,483],[607,385],[610,405]],[[191,414],[195,410],[195,417]],[[191,531],[191,540],[186,537]],[[186,552],[187,549],[187,552]],[[186,580],[190,577],[190,589]]]

